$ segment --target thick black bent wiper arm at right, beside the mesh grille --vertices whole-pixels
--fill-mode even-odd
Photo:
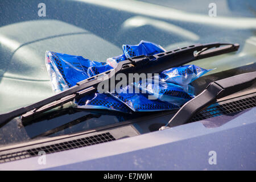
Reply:
[[[167,125],[159,130],[188,123],[197,111],[213,104],[217,99],[248,88],[255,81],[256,72],[250,72],[211,82],[203,92],[184,104]]]

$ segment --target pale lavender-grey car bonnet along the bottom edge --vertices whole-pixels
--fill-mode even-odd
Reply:
[[[163,131],[28,158],[0,169],[172,170],[256,169],[256,108]],[[210,123],[220,123],[220,126]],[[209,164],[209,152],[217,164]]]

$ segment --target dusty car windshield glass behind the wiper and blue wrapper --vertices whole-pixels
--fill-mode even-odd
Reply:
[[[254,1],[2,0],[0,15],[0,114],[53,96],[46,51],[105,62],[121,55],[123,44],[141,40],[167,51],[195,43],[240,44],[237,52],[189,63],[213,69],[192,83],[196,93],[210,81],[256,70]],[[165,112],[150,114],[157,117],[159,113]],[[92,130],[144,115],[64,108],[27,126],[18,117],[0,129],[0,146]],[[67,125],[71,121],[75,122]],[[45,134],[58,126],[63,126],[60,131]]]

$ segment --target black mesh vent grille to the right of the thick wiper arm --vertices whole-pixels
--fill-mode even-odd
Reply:
[[[250,109],[256,106],[256,96],[243,98],[241,100],[228,102],[220,105],[212,105],[200,111],[195,117],[191,119],[191,122],[200,121],[207,118],[216,117],[222,114],[232,114],[245,109]]]

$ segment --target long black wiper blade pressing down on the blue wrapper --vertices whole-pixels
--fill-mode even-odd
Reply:
[[[152,56],[135,56],[117,64],[117,67],[100,73],[96,76],[77,82],[75,86],[46,98],[35,104],[21,107],[9,113],[0,115],[0,126],[5,125],[12,118],[25,114],[28,116],[42,113],[59,105],[63,105],[75,98],[80,98],[92,92],[96,92],[97,85],[101,81],[110,81],[117,73],[160,73],[168,68],[179,67],[191,61],[203,59],[206,57],[220,55],[237,51],[239,44],[195,44],[188,47],[177,48],[173,51],[162,52]],[[129,80],[127,80],[129,84]],[[112,85],[111,85],[112,86]],[[114,85],[115,86],[115,85]],[[110,88],[111,89],[111,88]]]

